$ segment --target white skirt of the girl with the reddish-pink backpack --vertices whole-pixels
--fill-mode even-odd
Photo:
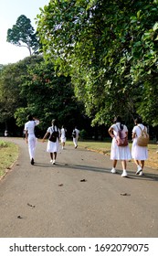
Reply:
[[[118,146],[116,139],[112,139],[111,143],[111,160],[130,160],[132,159],[129,145]]]

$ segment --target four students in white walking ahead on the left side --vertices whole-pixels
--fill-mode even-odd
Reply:
[[[25,123],[25,134],[26,134],[26,143],[28,144],[28,152],[30,156],[30,163],[31,165],[35,164],[35,150],[37,145],[37,138],[35,135],[35,126],[39,124],[39,120],[32,115],[28,115],[27,117],[28,121]],[[52,120],[51,126],[47,128],[47,133],[44,135],[42,142],[44,143],[46,138],[47,140],[47,153],[50,154],[50,163],[53,165],[56,164],[57,154],[58,154],[58,148],[59,148],[59,139],[62,144],[62,149],[65,148],[66,144],[66,133],[67,130],[62,126],[61,129],[58,128],[58,122],[56,119]],[[51,136],[54,139],[50,139]],[[75,149],[78,147],[78,139],[79,139],[79,130],[77,127],[72,132],[73,136],[73,143],[75,146]]]

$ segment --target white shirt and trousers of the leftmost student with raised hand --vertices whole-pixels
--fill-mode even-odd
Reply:
[[[35,158],[35,150],[37,145],[37,137],[35,136],[35,126],[39,124],[38,120],[28,121],[25,124],[25,130],[28,133],[28,153],[30,160]]]

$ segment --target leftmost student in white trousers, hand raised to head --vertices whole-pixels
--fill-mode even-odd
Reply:
[[[35,162],[35,151],[37,145],[37,137],[35,135],[35,126],[39,124],[39,120],[33,117],[31,114],[27,116],[28,122],[25,123],[24,130],[26,131],[26,144],[28,144],[28,152],[31,165]]]

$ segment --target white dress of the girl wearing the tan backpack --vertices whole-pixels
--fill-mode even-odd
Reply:
[[[142,130],[144,129],[144,125],[142,123],[139,123]],[[145,127],[145,130],[147,132],[147,129]],[[141,129],[138,127],[138,125],[134,126],[132,129],[132,133],[136,133],[136,137],[132,141],[132,158],[135,160],[146,160],[148,158],[148,148],[147,146],[140,146],[137,145],[137,139],[141,135]]]

